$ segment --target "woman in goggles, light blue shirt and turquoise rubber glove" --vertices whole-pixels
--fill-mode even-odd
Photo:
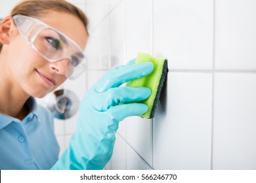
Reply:
[[[36,104],[87,67],[88,20],[60,0],[22,1],[0,25],[0,169],[103,169],[119,121],[139,116],[148,88],[119,87],[152,72],[152,63],[116,67],[85,93],[77,129],[58,159],[51,113]]]

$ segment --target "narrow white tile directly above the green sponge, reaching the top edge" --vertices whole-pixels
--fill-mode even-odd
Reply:
[[[135,6],[136,4],[136,6]],[[129,0],[125,4],[125,58],[137,58],[138,52],[152,53],[153,8],[152,0]],[[146,12],[146,13],[143,13]]]

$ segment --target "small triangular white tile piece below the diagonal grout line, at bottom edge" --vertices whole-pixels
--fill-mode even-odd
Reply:
[[[127,170],[151,170],[151,167],[127,144]]]

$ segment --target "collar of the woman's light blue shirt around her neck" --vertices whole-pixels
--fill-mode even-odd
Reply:
[[[39,111],[38,111],[38,107],[37,107],[35,98],[33,98],[33,97],[28,98],[25,105],[29,108],[29,113],[24,118],[24,120],[26,120],[28,118],[33,118],[33,116],[35,116],[37,118],[37,120],[39,120],[39,118],[38,118]],[[11,124],[11,122],[20,122],[20,120],[18,120],[17,118],[13,118],[12,116],[8,116],[6,114],[0,113],[0,129],[3,129],[7,125]]]

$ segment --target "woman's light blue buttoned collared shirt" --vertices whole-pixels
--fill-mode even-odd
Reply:
[[[0,113],[0,169],[51,169],[58,160],[53,115],[30,97],[20,121]]]

